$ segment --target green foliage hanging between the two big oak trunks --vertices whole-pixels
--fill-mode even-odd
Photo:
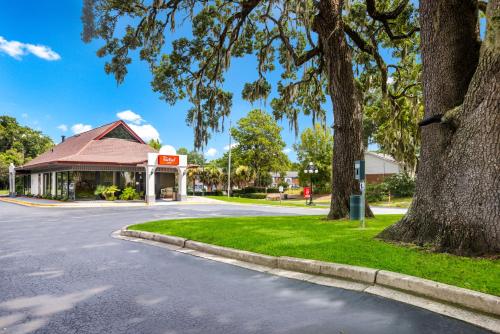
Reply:
[[[398,52],[399,63],[391,65],[387,94],[382,93],[379,72],[367,64],[359,76],[363,86],[365,146],[377,143],[383,153],[391,155],[406,172],[414,175],[420,152],[420,129],[423,98],[418,61],[420,38],[412,37]]]

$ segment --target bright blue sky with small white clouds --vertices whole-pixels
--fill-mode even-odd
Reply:
[[[185,123],[189,104],[170,106],[161,101],[151,90],[151,75],[143,62],[132,63],[118,86],[104,73],[105,60],[95,55],[102,42],[81,41],[80,15],[79,0],[0,4],[0,114],[14,116],[59,142],[61,135],[115,121],[118,113],[129,111],[120,115],[129,116],[128,123],[145,139],[159,135],[162,144],[191,149],[193,131]],[[182,33],[181,29],[177,35]],[[256,76],[252,57],[232,62],[226,87],[234,94],[233,123],[252,108],[271,111],[269,103],[252,106],[241,99],[244,83]],[[331,124],[331,107],[325,107]],[[301,130],[311,126],[311,118],[302,116],[299,125]],[[286,152],[295,160],[289,150],[295,135],[287,121],[281,126]],[[227,143],[227,132],[214,134],[205,148],[207,158],[220,157]]]

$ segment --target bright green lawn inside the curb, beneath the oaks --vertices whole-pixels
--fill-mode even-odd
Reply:
[[[357,222],[318,216],[231,217],[149,222],[134,230],[176,235],[274,256],[293,256],[385,269],[500,295],[500,261],[436,254],[374,237],[399,215]]]

